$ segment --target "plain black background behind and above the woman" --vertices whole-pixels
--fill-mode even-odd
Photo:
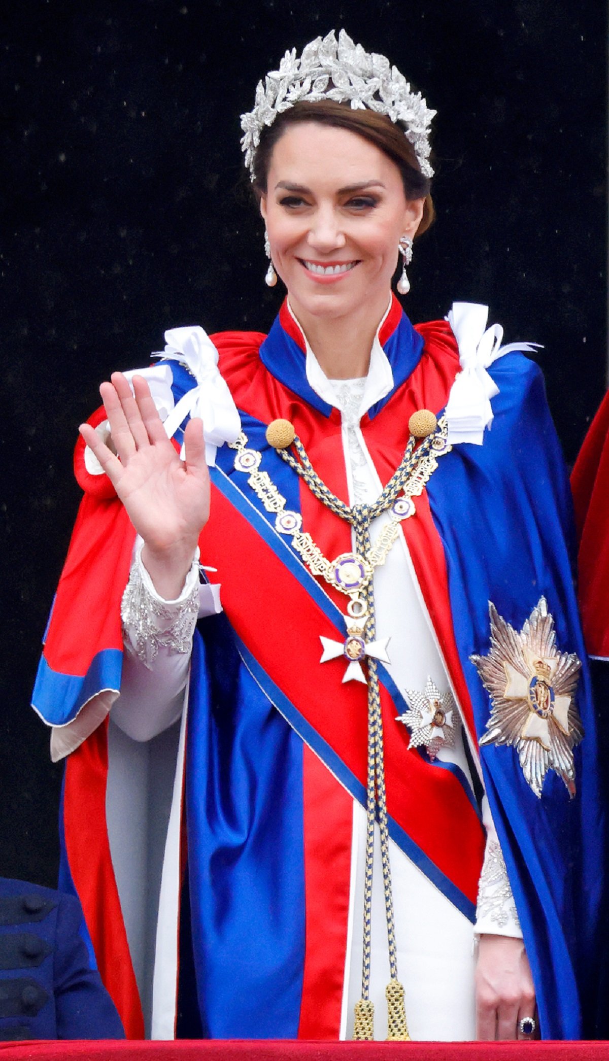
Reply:
[[[6,4],[4,5],[7,6]],[[572,460],[605,388],[599,0],[21,0],[0,33],[4,612],[0,873],[52,884],[60,767],[28,709],[79,491],[76,425],[164,329],[268,327],[239,115],[288,47],[344,27],[437,108],[438,220],[414,320],[490,305],[538,359]],[[532,459],[535,455],[532,454]]]

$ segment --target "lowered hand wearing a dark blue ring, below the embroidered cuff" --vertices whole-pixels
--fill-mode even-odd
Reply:
[[[476,1039],[538,1039],[519,1028],[535,1017],[535,988],[524,943],[511,936],[480,937],[475,971]]]

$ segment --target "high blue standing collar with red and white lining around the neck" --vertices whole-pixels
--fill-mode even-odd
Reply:
[[[380,412],[417,365],[423,347],[398,300],[392,296],[375,335],[360,416]],[[285,299],[260,356],[268,371],[325,416],[335,407],[335,387],[321,369]]]

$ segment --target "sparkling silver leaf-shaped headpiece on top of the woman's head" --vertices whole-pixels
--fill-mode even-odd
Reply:
[[[404,126],[421,173],[433,176],[429,133],[436,111],[428,108],[420,92],[412,91],[404,75],[384,55],[364,51],[344,30],[336,40],[332,30],[326,37],[316,37],[308,44],[300,58],[295,48],[285,52],[279,70],[272,70],[264,82],[258,82],[254,110],[241,116],[244,133],[241,146],[253,180],[254,157],[262,129],[273,125],[277,115],[302,100],[349,101],[354,110],[387,115],[393,122]]]

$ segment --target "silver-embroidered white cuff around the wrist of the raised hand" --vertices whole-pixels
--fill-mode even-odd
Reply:
[[[142,559],[143,542],[136,551],[129,580],[121,602],[123,636],[149,669],[159,648],[190,653],[199,607],[198,550],[180,595],[163,601],[156,593]]]

